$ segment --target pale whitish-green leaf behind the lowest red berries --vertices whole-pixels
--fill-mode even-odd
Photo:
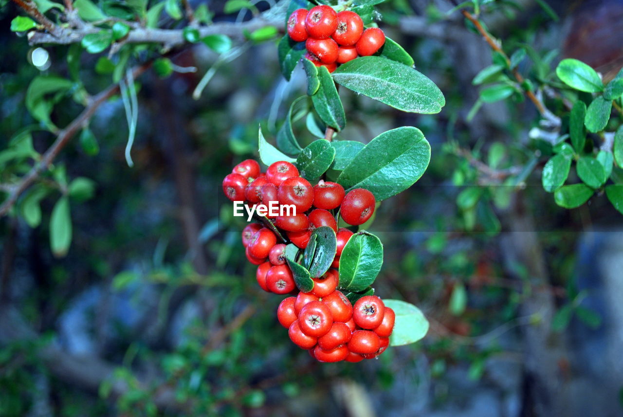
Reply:
[[[419,308],[400,300],[383,300],[386,307],[396,313],[394,331],[389,336],[390,346],[402,346],[417,342],[426,336],[429,322]]]

